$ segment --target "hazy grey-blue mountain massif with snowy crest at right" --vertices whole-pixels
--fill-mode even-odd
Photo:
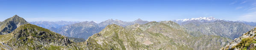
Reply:
[[[228,37],[230,39],[237,38],[243,32],[253,29],[253,26],[244,24],[243,22],[225,21],[213,17],[191,18],[189,20],[176,20],[179,25],[188,29],[188,31],[201,32],[208,35],[218,35]]]

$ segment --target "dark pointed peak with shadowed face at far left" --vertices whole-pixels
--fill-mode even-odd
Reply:
[[[0,34],[8,34],[23,24],[29,24],[24,18],[17,15],[0,22]]]

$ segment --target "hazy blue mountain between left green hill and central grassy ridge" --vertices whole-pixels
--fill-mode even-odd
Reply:
[[[102,29],[103,27],[100,27],[94,21],[84,21],[76,24],[63,26],[62,28],[59,28],[58,31],[55,32],[58,32],[59,34],[62,34],[67,37],[87,39],[89,36],[100,32]]]

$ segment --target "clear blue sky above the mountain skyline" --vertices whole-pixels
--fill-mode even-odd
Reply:
[[[256,21],[256,0],[0,0],[0,21],[167,21],[215,17]]]

